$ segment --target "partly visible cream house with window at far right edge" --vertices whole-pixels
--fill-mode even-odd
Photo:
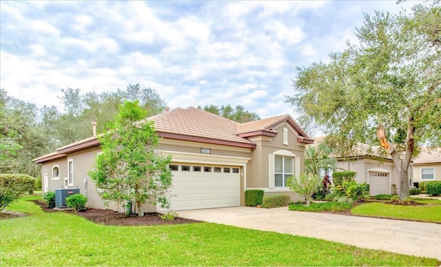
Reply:
[[[441,181],[441,148],[422,148],[413,159],[413,181]]]

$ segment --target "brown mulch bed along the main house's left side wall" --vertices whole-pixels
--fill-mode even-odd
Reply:
[[[55,210],[53,208],[48,208],[48,205],[42,200],[33,200],[32,202],[40,206],[44,212],[68,212],[84,217],[89,221],[94,221],[97,224],[105,224],[107,226],[152,226],[164,224],[193,224],[201,222],[182,217],[176,217],[174,220],[162,219],[157,212],[145,213],[143,217],[139,217],[136,214],[131,214],[127,217],[121,212],[114,210],[101,210],[97,208],[89,208],[88,210],[75,213],[72,210]]]

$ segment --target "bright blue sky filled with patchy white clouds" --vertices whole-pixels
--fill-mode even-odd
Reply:
[[[170,108],[298,115],[296,66],[356,42],[363,13],[407,1],[0,1],[0,86],[63,111],[61,88],[150,87]]]

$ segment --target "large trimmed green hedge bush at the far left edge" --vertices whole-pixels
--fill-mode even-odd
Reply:
[[[34,193],[35,188],[34,177],[29,175],[0,175],[0,210],[6,208],[12,201],[16,201],[26,192]]]

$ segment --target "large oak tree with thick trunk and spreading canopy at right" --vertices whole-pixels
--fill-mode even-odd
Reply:
[[[419,4],[410,13],[365,14],[329,63],[297,68],[286,101],[305,126],[320,126],[344,154],[357,141],[381,144],[409,197],[408,168],[421,146],[441,145],[441,7]]]

